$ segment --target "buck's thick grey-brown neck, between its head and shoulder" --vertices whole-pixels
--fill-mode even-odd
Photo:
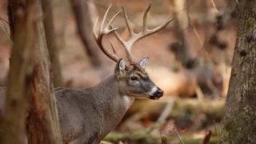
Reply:
[[[101,130],[101,137],[105,137],[122,120],[134,102],[134,98],[122,94],[118,90],[118,80],[114,75],[100,82],[93,90],[94,94],[97,94],[94,95],[94,102],[98,106],[101,125],[104,127]]]

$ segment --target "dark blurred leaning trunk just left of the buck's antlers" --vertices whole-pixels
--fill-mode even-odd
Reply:
[[[70,4],[74,11],[78,26],[78,33],[82,38],[86,54],[90,57],[90,61],[94,66],[101,66],[101,61],[97,54],[98,45],[96,44],[92,34],[88,1],[84,3],[82,0],[70,0]]]

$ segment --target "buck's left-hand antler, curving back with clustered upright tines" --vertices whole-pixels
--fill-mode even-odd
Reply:
[[[113,47],[112,43],[110,42],[111,46],[112,46],[112,49],[114,50],[114,54],[110,54],[110,52],[107,51],[104,48],[104,46],[102,46],[102,38],[103,38],[103,36],[106,35],[106,34],[111,34],[113,31],[118,30],[118,28],[112,28],[111,24],[114,22],[114,19],[118,16],[118,14],[121,13],[122,10],[118,11],[117,14],[114,14],[113,18],[110,19],[110,22],[108,22],[106,24],[106,26],[104,26],[104,24],[106,22],[106,16],[107,16],[107,14],[110,11],[111,6],[112,6],[112,4],[107,8],[106,13],[104,14],[104,17],[102,19],[102,23],[101,23],[99,31],[98,31],[98,34],[96,32],[96,26],[97,26],[97,23],[98,23],[98,17],[96,18],[96,22],[94,24],[94,38],[96,39],[96,42],[97,42],[99,48],[102,50],[102,52],[104,54],[106,54],[106,56],[109,57],[110,59],[112,59],[114,62],[118,62],[119,58],[118,58],[118,55],[115,53],[115,50],[114,50],[114,47]]]

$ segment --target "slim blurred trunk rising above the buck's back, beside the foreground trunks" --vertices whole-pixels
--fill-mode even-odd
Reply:
[[[50,0],[42,1],[43,24],[46,33],[46,43],[50,55],[50,65],[53,75],[54,87],[60,87],[62,82],[62,69],[58,58],[58,48],[54,33],[53,13]]]

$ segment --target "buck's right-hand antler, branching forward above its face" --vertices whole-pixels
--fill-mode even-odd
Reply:
[[[174,18],[170,18],[166,22],[164,22],[162,25],[160,25],[152,30],[149,30],[149,29],[147,29],[147,26],[146,26],[146,17],[150,10],[150,7],[151,7],[151,4],[144,11],[142,32],[140,32],[138,34],[135,34],[134,30],[132,30],[132,28],[130,26],[130,20],[126,13],[126,9],[124,7],[122,7],[122,10],[124,12],[124,16],[126,19],[126,26],[128,28],[129,34],[130,34],[130,39],[128,41],[124,41],[115,30],[114,30],[114,35],[116,36],[118,41],[121,42],[122,46],[125,47],[126,55],[127,55],[128,60],[130,61],[130,63],[134,63],[134,60],[131,57],[131,47],[134,45],[134,43],[137,42],[139,39],[145,38],[146,36],[148,36],[150,34],[154,34],[154,33],[158,32],[159,30],[166,28],[166,26],[174,19]]]

